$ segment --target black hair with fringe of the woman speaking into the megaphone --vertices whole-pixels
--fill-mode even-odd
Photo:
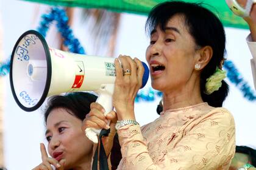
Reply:
[[[149,13],[146,21],[146,32],[150,35],[152,30],[159,25],[165,30],[169,19],[174,15],[184,17],[188,32],[193,36],[197,46],[210,46],[213,49],[212,59],[201,72],[200,88],[202,100],[210,106],[221,107],[223,101],[229,93],[229,86],[222,80],[222,86],[210,95],[204,94],[205,83],[224,61],[226,53],[226,35],[221,21],[210,10],[202,7],[202,3],[190,3],[182,1],[163,2],[158,4]]]

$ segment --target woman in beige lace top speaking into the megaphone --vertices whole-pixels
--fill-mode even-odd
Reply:
[[[151,10],[146,30],[151,85],[163,93],[160,117],[140,127],[134,101],[143,67],[136,58],[119,56],[123,69],[115,60],[115,112],[104,117],[102,107],[91,104],[83,129],[106,129],[105,122],[112,120],[122,154],[117,169],[229,169],[235,125],[222,107],[228,86],[221,21],[202,4],[169,1]],[[113,140],[105,139],[110,151]]]

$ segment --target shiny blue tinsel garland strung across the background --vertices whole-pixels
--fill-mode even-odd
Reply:
[[[68,16],[66,15],[65,10],[52,8],[49,14],[44,14],[41,16],[42,21],[40,22],[40,27],[38,27],[38,32],[40,32],[43,36],[46,36],[48,32],[49,26],[52,21],[57,21],[57,28],[60,34],[64,38],[63,44],[68,47],[70,52],[85,54],[84,48],[80,45],[80,42],[77,38],[74,38],[73,31],[70,29],[68,25]],[[241,73],[238,72],[235,65],[232,61],[226,61],[224,64],[224,69],[227,70],[227,78],[233,84],[235,84],[243,93],[244,98],[247,98],[249,101],[255,101],[256,95],[254,90],[244,81]],[[0,77],[5,76],[9,73],[10,70],[10,59],[0,63]],[[140,90],[137,94],[135,101],[154,101],[155,97],[160,97],[162,95],[161,92],[158,92],[153,89],[149,89],[148,92],[145,90]]]

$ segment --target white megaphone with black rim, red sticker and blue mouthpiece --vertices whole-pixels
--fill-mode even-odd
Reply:
[[[46,97],[64,92],[94,91],[105,114],[113,109],[115,58],[79,55],[48,47],[44,37],[35,30],[20,36],[10,61],[10,86],[21,109],[38,109]],[[143,84],[148,81],[145,63]],[[87,137],[98,143],[100,129],[88,128]]]

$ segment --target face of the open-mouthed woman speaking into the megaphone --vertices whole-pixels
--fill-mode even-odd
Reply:
[[[195,55],[199,53],[183,17],[174,15],[164,31],[157,27],[151,33],[146,60],[151,71],[152,87],[166,93],[185,87],[196,64]]]

